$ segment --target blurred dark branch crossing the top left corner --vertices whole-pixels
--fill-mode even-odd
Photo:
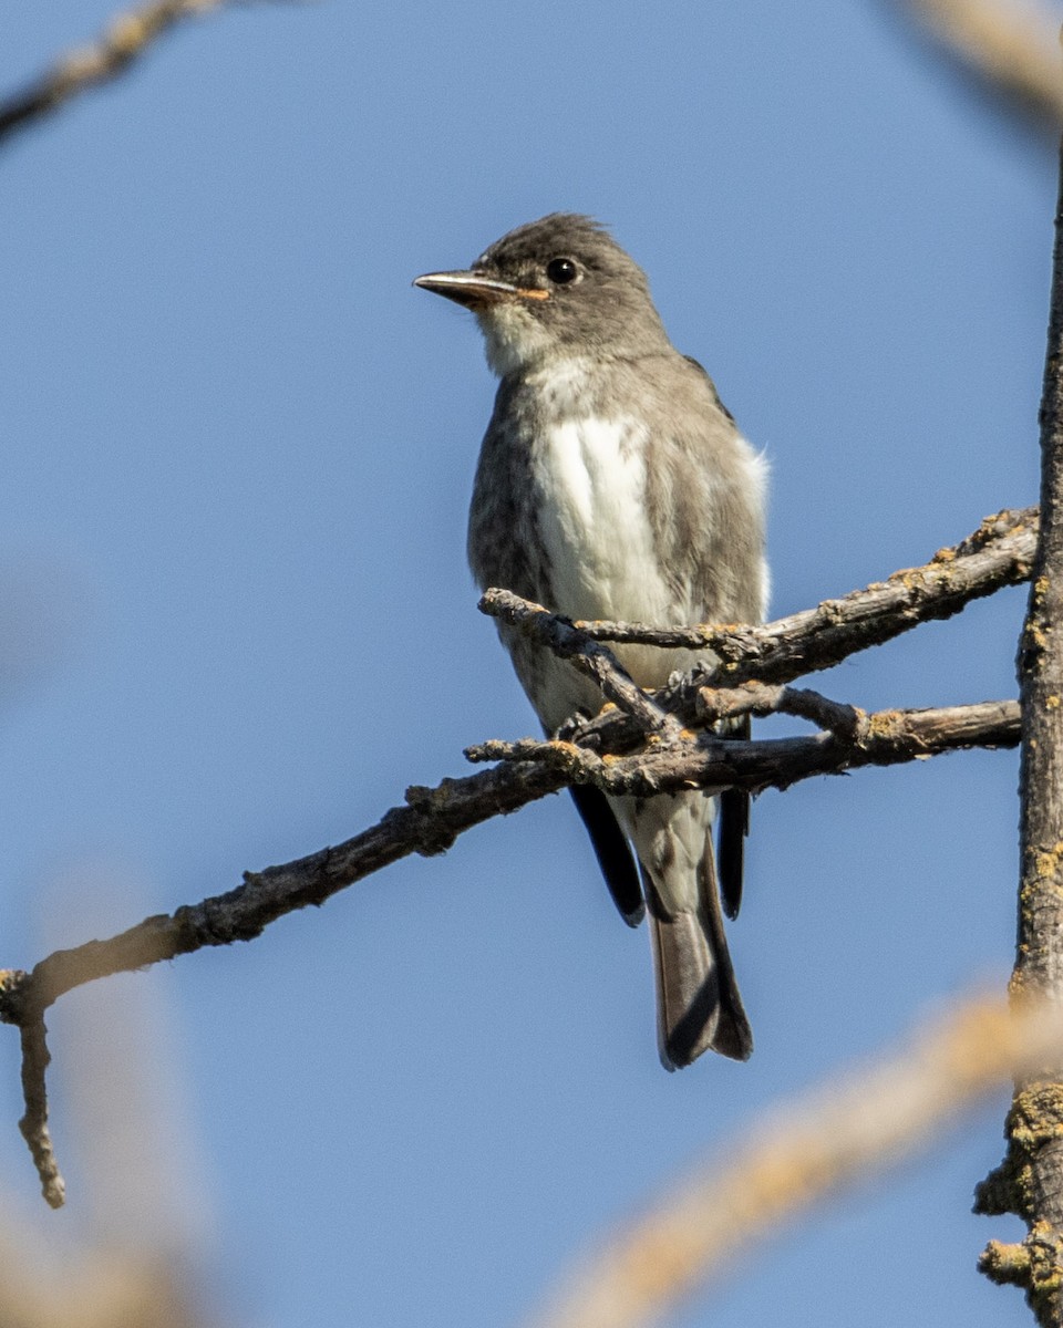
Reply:
[[[0,141],[57,110],[78,93],[117,78],[175,24],[226,3],[155,0],[118,15],[93,45],[69,52],[29,86],[0,101]]]

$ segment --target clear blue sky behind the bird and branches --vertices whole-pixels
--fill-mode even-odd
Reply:
[[[7,12],[0,85],[106,16]],[[775,614],[1036,494],[1051,153],[882,5],[239,7],[0,166],[5,967],[344,839],[466,744],[534,732],[464,562],[493,382],[472,319],[409,286],[514,224],[591,212],[646,267],[769,458]],[[822,688],[1014,695],[1022,607]],[[748,1065],[659,1068],[646,936],[563,798],[114,984],[165,1007],[211,1293],[263,1328],[514,1323],[688,1158],[1003,984],[1015,781],[975,753],[759,799],[731,931]],[[94,999],[53,1012],[57,1076],[106,1049]],[[16,1050],[0,1166],[35,1211]],[[57,1093],[61,1250],[98,1178]],[[1018,1223],[969,1214],[1005,1102],[680,1321],[1024,1323],[974,1272]]]

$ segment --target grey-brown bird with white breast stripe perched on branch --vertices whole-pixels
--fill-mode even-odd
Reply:
[[[672,345],[646,274],[606,226],[551,212],[472,267],[413,284],[474,313],[500,378],[469,510],[481,590],[569,619],[763,622],[767,463],[708,373]],[[512,625],[498,631],[547,736],[601,709],[595,684],[570,663]],[[706,657],[644,644],[615,652],[646,689]],[[747,1060],[752,1032],[723,911],[735,916],[741,896],[748,794],[571,794],[621,915],[631,926],[648,918],[662,1064],[679,1069],[710,1048]]]

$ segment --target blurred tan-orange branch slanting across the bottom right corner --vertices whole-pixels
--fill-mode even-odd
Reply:
[[[973,997],[900,1052],[776,1110],[692,1163],[589,1255],[529,1328],[643,1328],[748,1258],[756,1239],[922,1150],[997,1089],[1063,1053],[1055,1009]]]

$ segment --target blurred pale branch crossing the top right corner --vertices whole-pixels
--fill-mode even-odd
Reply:
[[[1028,0],[890,0],[1038,129],[1063,125],[1059,16]]]

